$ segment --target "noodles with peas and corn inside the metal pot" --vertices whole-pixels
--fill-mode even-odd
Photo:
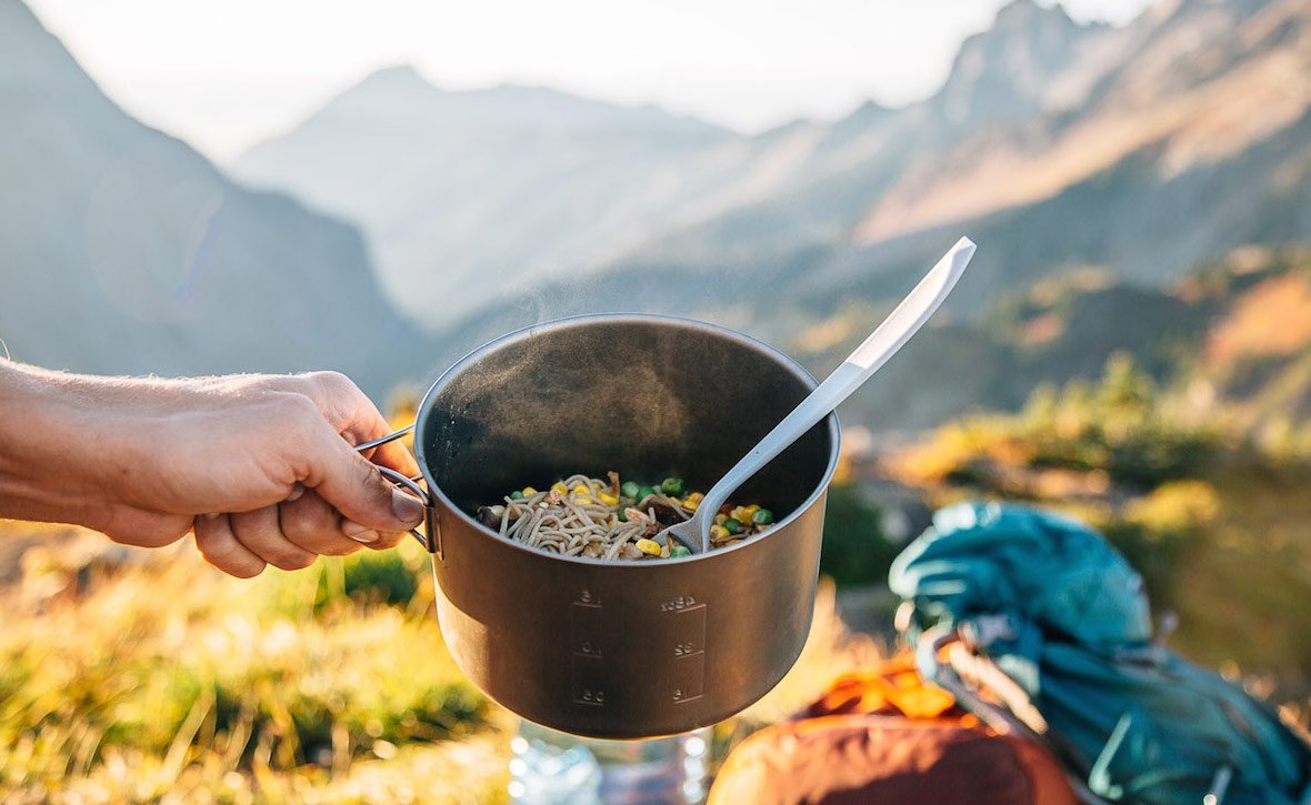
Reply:
[[[479,520],[531,548],[591,559],[652,560],[688,556],[684,545],[659,534],[692,517],[705,497],[687,492],[683,479],[658,484],[620,482],[572,475],[544,490],[524,486],[503,503],[480,506]],[[766,531],[773,513],[758,505],[726,503],[711,526],[711,549],[734,545]]]

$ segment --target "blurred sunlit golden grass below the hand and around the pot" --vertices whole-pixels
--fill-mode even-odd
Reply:
[[[33,535],[46,543],[0,589],[0,800],[505,800],[517,721],[447,654],[421,551],[241,581],[190,545],[0,526],[0,544]],[[412,599],[388,604],[397,574]],[[834,598],[821,585],[801,659],[721,725],[720,754],[878,656]]]

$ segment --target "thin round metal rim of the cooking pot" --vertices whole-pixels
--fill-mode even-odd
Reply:
[[[423,395],[423,400],[420,402],[418,410],[414,414],[414,456],[418,459],[420,471],[423,473],[423,480],[427,482],[427,489],[429,489],[429,496],[430,496],[430,505],[433,507],[437,506],[438,501],[442,501],[442,502],[446,503],[446,509],[448,511],[455,513],[455,515],[459,517],[459,518],[461,518],[465,524],[472,526],[476,532],[481,534],[482,536],[489,536],[492,539],[496,539],[497,541],[499,541],[502,544],[506,544],[506,545],[510,545],[513,548],[517,548],[519,551],[524,551],[527,553],[531,553],[532,556],[540,556],[540,557],[547,559],[547,560],[566,561],[566,562],[574,562],[574,564],[581,564],[581,565],[597,565],[597,566],[603,566],[603,568],[633,568],[633,569],[640,569],[640,568],[644,568],[644,566],[645,568],[667,566],[667,565],[680,564],[680,562],[700,561],[700,560],[705,560],[705,559],[714,557],[714,556],[725,556],[725,555],[732,553],[734,551],[738,551],[738,549],[742,549],[742,548],[750,548],[753,545],[763,543],[764,540],[770,539],[775,534],[781,532],[783,531],[783,526],[785,526],[785,524],[791,523],[792,520],[797,519],[804,511],[809,511],[810,507],[815,503],[815,501],[819,500],[819,497],[823,496],[829,490],[829,484],[832,482],[832,476],[834,476],[834,473],[838,469],[838,456],[839,456],[840,446],[842,446],[842,441],[840,441],[842,439],[842,430],[840,430],[840,426],[838,423],[838,414],[836,414],[836,412],[830,413],[827,417],[825,417],[822,420],[829,426],[830,450],[829,450],[829,465],[825,468],[823,476],[821,477],[819,484],[812,490],[812,493],[806,497],[806,500],[800,506],[797,506],[796,509],[793,509],[792,513],[788,514],[788,517],[785,517],[781,520],[779,520],[775,524],[775,527],[770,528],[767,532],[762,534],[756,539],[743,540],[743,541],[741,541],[741,543],[738,543],[735,545],[729,545],[728,548],[717,548],[714,551],[707,551],[705,553],[694,553],[691,556],[669,557],[669,559],[661,560],[659,562],[638,562],[638,561],[628,561],[628,562],[625,562],[625,561],[615,561],[615,560],[606,560],[606,559],[593,559],[593,557],[585,557],[585,556],[564,556],[564,555],[553,553],[553,552],[549,552],[549,551],[539,551],[536,548],[530,548],[528,545],[524,545],[523,543],[518,543],[518,541],[515,541],[513,539],[506,539],[498,531],[493,531],[492,528],[484,526],[476,518],[473,518],[472,515],[469,515],[468,513],[465,513],[463,509],[460,509],[459,506],[456,506],[455,502],[450,497],[447,497],[446,492],[433,480],[433,476],[429,472],[427,458],[425,456],[425,452],[426,452],[425,451],[425,439],[422,438],[422,435],[423,435],[423,426],[425,426],[425,423],[429,420],[429,417],[427,417],[429,412],[435,405],[437,396],[447,385],[450,385],[451,382],[455,380],[456,376],[459,376],[460,374],[463,374],[465,370],[468,370],[472,364],[475,364],[479,359],[481,359],[482,357],[488,355],[489,353],[497,351],[497,350],[499,350],[499,349],[502,349],[505,346],[509,346],[509,345],[514,345],[514,344],[519,344],[522,341],[527,341],[528,338],[535,338],[535,337],[545,334],[545,333],[553,333],[553,332],[557,332],[557,330],[566,330],[566,329],[570,329],[570,328],[589,325],[589,324],[595,324],[595,323],[599,323],[599,321],[617,323],[617,324],[624,324],[624,323],[645,324],[645,323],[653,323],[653,321],[654,323],[667,323],[667,324],[675,324],[675,325],[686,326],[686,328],[690,328],[690,329],[694,329],[694,330],[701,330],[701,332],[705,332],[705,333],[712,333],[716,337],[726,338],[729,341],[737,341],[737,342],[742,344],[743,346],[750,346],[753,349],[758,349],[760,351],[771,354],[772,357],[775,357],[779,361],[779,363],[784,368],[791,370],[793,375],[796,375],[802,382],[808,383],[812,389],[814,389],[815,385],[818,385],[818,382],[815,380],[814,375],[812,375],[809,371],[806,371],[806,368],[804,366],[801,366],[801,363],[798,363],[794,358],[792,358],[787,353],[784,353],[784,351],[781,351],[781,350],[779,350],[779,349],[776,349],[773,346],[770,346],[768,344],[760,341],[759,338],[753,338],[751,336],[747,336],[747,334],[741,333],[738,330],[729,329],[726,326],[721,326],[721,325],[717,325],[717,324],[711,324],[708,321],[700,321],[697,319],[687,319],[687,317],[683,317],[683,316],[667,316],[667,315],[662,315],[662,313],[585,313],[585,315],[581,315],[581,316],[568,316],[568,317],[564,317],[564,319],[555,319],[555,320],[551,320],[551,321],[543,321],[543,323],[539,323],[539,324],[531,324],[528,326],[524,326],[524,328],[513,330],[510,333],[506,333],[503,336],[499,336],[497,338],[493,338],[492,341],[488,341],[482,346],[479,346],[475,350],[469,351],[467,355],[464,355],[463,358],[460,358],[459,361],[456,361],[455,363],[452,363],[444,372],[442,372],[442,375],[437,379],[437,382],[433,383],[431,387],[429,387],[427,393]],[[444,513],[443,513],[443,515],[444,515]]]

